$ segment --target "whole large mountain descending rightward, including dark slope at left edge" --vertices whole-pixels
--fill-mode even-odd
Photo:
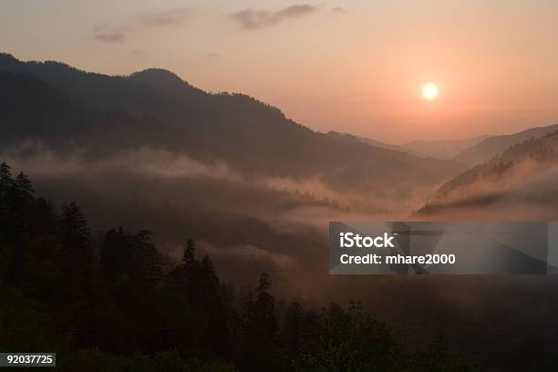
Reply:
[[[334,140],[254,98],[209,94],[166,70],[109,77],[4,54],[0,71],[8,72],[0,76],[1,104],[10,108],[0,114],[4,142],[29,137],[90,156],[151,147],[224,161],[248,176],[318,176],[347,191],[409,192],[463,170],[451,160]],[[52,104],[36,105],[50,99]]]

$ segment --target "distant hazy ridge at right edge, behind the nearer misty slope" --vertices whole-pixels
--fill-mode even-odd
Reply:
[[[469,165],[477,165],[490,160],[493,156],[498,155],[501,151],[512,145],[520,143],[523,140],[529,140],[530,138],[541,137],[556,129],[558,129],[558,124],[549,127],[527,129],[510,135],[493,136],[480,141],[479,144],[470,147],[470,149],[461,151],[453,160]]]

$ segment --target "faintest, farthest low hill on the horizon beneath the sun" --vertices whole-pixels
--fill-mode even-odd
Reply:
[[[490,136],[478,136],[465,140],[413,140],[398,147],[417,155],[452,159],[461,151],[467,150],[488,138]]]

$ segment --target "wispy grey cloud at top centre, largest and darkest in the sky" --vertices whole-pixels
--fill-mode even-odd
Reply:
[[[310,15],[317,8],[313,5],[291,5],[284,9],[271,12],[268,10],[244,9],[230,15],[230,18],[238,23],[245,30],[259,29],[267,26],[274,26],[289,18],[297,18]]]

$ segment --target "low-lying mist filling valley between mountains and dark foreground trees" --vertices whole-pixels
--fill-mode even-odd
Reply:
[[[346,194],[327,186],[317,175],[255,179],[224,162],[202,163],[183,154],[147,148],[91,160],[80,151],[62,154],[27,145],[6,150],[1,159],[14,171],[28,174],[37,195],[57,205],[70,202],[70,196],[78,202],[98,243],[110,228],[149,229],[160,251],[178,260],[182,244],[193,238],[199,251],[212,257],[223,281],[248,286],[266,271],[274,280],[275,294],[284,300],[297,297],[314,306],[360,300],[393,321],[396,333],[409,346],[429,339],[438,329],[463,344],[471,335],[484,333],[487,345],[510,337],[520,337],[522,343],[531,337],[529,342],[543,345],[541,337],[549,336],[549,325],[558,325],[552,316],[558,310],[554,294],[558,278],[553,276],[328,274],[327,222],[430,218],[412,213],[431,190],[412,195],[389,190]],[[531,202],[529,195],[535,190],[551,195],[558,168],[535,173],[536,179],[527,179],[523,171],[514,173],[506,179],[503,191],[498,182],[483,181],[460,191],[460,198],[474,197],[480,191],[501,191],[506,198],[517,198],[524,191],[522,198]],[[517,211],[527,208],[527,203],[518,202],[512,199],[510,205]],[[475,208],[478,214],[439,211],[435,219],[478,218],[487,207]],[[524,219],[522,214],[514,216]],[[521,312],[516,311],[517,304],[522,304]],[[516,328],[509,328],[510,324]],[[470,347],[484,352],[481,346]],[[479,350],[472,350],[475,347]]]

